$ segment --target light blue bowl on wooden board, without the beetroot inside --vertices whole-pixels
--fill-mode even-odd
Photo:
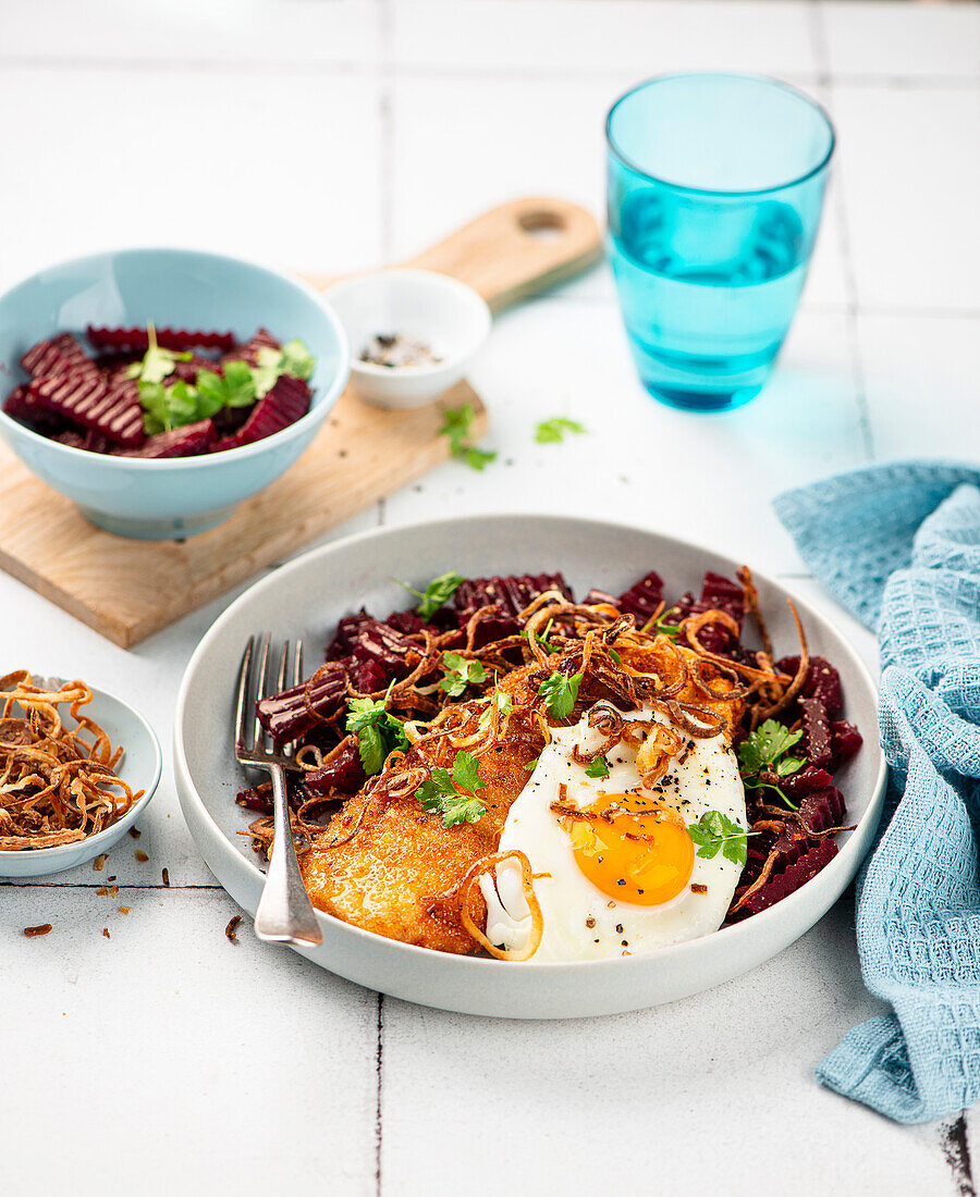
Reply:
[[[86,324],[231,329],[246,340],[264,326],[300,338],[316,358],[310,411],[264,440],[202,457],[145,461],[71,449],[0,412],[0,436],[43,482],[92,523],[121,536],[170,540],[206,531],[285,473],[339,399],[350,346],[331,308],[310,287],[235,257],[183,249],[123,249],[62,262],[0,297],[0,388],[26,375],[22,354]]]

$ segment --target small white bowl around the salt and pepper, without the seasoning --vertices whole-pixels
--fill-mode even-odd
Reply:
[[[465,282],[432,271],[393,269],[338,282],[323,298],[351,346],[351,383],[376,407],[423,407],[454,387],[490,332],[490,309]],[[424,341],[435,365],[379,366],[361,361],[377,335]]]

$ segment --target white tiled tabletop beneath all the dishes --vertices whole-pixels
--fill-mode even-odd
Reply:
[[[448,506],[598,506],[787,577],[873,663],[871,637],[806,578],[768,500],[870,460],[976,455],[980,7],[0,8],[2,285],[125,242],[370,265],[510,195],[600,209],[604,109],[645,74],[728,67],[813,91],[837,121],[840,170],[801,312],[758,400],[714,419],[652,403],[595,271],[497,322],[473,381],[498,463],[483,475],[446,466],[338,534]],[[175,153],[165,186],[147,168],[161,148]],[[533,424],[555,414],[589,436],[536,445]],[[569,485],[579,476],[587,487]],[[180,674],[225,601],[123,652],[0,576],[0,643],[8,663],[30,643],[42,672],[116,689],[169,742]],[[380,1001],[260,946],[246,924],[229,944],[235,907],[187,834],[169,772],[143,832],[146,864],[126,839],[103,874],[0,888],[5,1193],[973,1192],[968,1165],[950,1161],[975,1125],[897,1128],[812,1080],[875,1013],[847,900],[764,968],[688,1002],[494,1022]],[[110,874],[123,888],[99,898]],[[46,920],[47,938],[20,934]]]

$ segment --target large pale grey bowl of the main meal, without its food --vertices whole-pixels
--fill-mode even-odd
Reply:
[[[249,840],[237,836],[249,815],[234,802],[240,773],[231,754],[235,678],[249,634],[301,636],[325,644],[338,618],[362,604],[385,615],[405,606],[393,581],[428,582],[447,570],[462,575],[562,570],[576,594],[599,587],[613,594],[658,570],[671,594],[701,585],[706,570],[733,575],[736,561],[649,531],[561,516],[478,516],[411,528],[385,528],[328,545],[262,579],[217,620],[183,676],[175,721],[175,768],[184,818],[212,873],[254,915],[264,874]],[[751,564],[751,563],[749,563]],[[793,651],[796,633],[786,591],[756,576],[779,648]],[[321,947],[303,955],[362,985],[411,1002],[467,1014],[559,1019],[613,1014],[686,997],[762,964],[809,930],[836,901],[867,851],[881,813],[885,765],[877,737],[877,694],[843,636],[794,598],[811,651],[841,673],[846,716],[860,727],[864,748],[840,772],[848,821],[840,853],[776,906],[701,940],[647,955],[583,964],[506,964],[429,952],[320,915]]]

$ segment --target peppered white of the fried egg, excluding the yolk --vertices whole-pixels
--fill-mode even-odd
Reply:
[[[625,719],[655,718],[670,722],[649,707],[623,716]],[[636,752],[621,742],[606,754],[610,776],[591,778],[576,765],[573,749],[594,752],[603,736],[588,725],[588,712],[570,728],[552,730],[551,742],[542,752],[534,772],[507,816],[500,851],[519,849],[533,873],[549,877],[534,881],[534,894],[544,916],[544,936],[533,955],[536,961],[599,960],[633,955],[653,948],[682,943],[718,930],[725,919],[742,868],[719,852],[707,859],[695,855],[690,882],[670,901],[640,906],[610,898],[595,887],[575,862],[571,841],[551,803],[564,784],[564,801],[586,808],[604,794],[622,794],[641,788]],[[690,826],[708,810],[719,810],[748,830],[745,790],[738,760],[724,736],[697,740],[685,737],[684,748],[673,758],[655,797],[677,810]],[[520,950],[531,930],[531,916],[521,887],[520,867],[504,861],[494,879],[485,876],[480,888],[486,899],[486,936],[500,947]],[[704,886],[696,892],[691,886]]]

